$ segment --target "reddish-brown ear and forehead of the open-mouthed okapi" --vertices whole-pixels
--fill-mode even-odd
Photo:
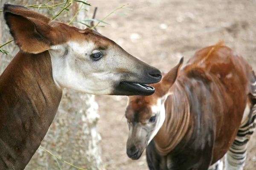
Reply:
[[[82,42],[93,40],[111,45],[112,40],[90,28],[85,30],[50,20],[44,15],[30,11],[23,6],[4,6],[4,17],[15,43],[22,51],[38,54],[50,48],[50,45],[63,44],[67,41]],[[29,40],[29,41],[28,41]]]

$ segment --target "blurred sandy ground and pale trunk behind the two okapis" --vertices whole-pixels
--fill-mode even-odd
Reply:
[[[0,0],[3,3],[31,5],[46,0]],[[55,3],[63,0],[54,0]],[[112,14],[97,27],[128,53],[161,71],[169,71],[181,57],[185,62],[195,51],[224,40],[238,51],[256,70],[256,0],[88,0],[88,12],[81,17],[102,20],[113,9],[129,3],[127,8]],[[58,17],[67,23],[72,14]],[[37,9],[31,9],[37,10]],[[49,12],[39,10],[49,16]],[[2,14],[1,14],[2,15]],[[2,17],[2,16],[1,16]],[[11,37],[1,21],[0,44]],[[73,23],[75,25],[75,23]],[[80,26],[84,28],[84,26]],[[9,36],[9,37],[8,37]],[[6,38],[8,37],[8,38]],[[14,43],[13,43],[14,44]],[[16,54],[15,45],[4,48]],[[1,72],[14,55],[0,54]],[[99,107],[97,106],[96,102]],[[128,126],[125,119],[126,96],[93,96],[65,90],[60,109],[43,140],[43,146],[77,166],[89,170],[148,170],[145,153],[133,161],[126,155]],[[84,109],[84,110],[83,110]],[[97,115],[99,114],[99,117]],[[101,137],[100,137],[101,136]],[[70,170],[61,164],[62,169]],[[249,142],[245,170],[256,167],[256,134]],[[38,149],[27,170],[58,170],[55,160]]]

